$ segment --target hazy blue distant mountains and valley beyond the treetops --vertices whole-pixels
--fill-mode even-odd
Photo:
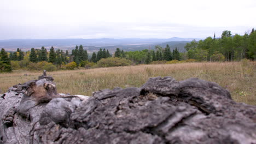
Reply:
[[[8,51],[15,51],[20,48],[24,51],[30,50],[32,47],[39,49],[44,46],[49,49],[54,46],[57,49],[71,50],[75,45],[83,45],[88,51],[97,51],[100,48],[108,49],[110,52],[114,51],[117,47],[124,51],[136,51],[143,49],[154,49],[155,45],[165,47],[170,45],[171,49],[177,47],[179,51],[184,51],[186,43],[192,40],[200,40],[196,38],[168,38],[168,39],[9,39],[0,40],[0,48]]]

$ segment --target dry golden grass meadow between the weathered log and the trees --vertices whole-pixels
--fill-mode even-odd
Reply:
[[[27,76],[25,76],[27,74]],[[42,71],[16,70],[0,74],[0,89],[37,79]],[[227,88],[237,102],[256,105],[256,62],[180,63],[136,65],[80,70],[62,70],[48,73],[54,77],[59,93],[91,95],[104,88],[141,87],[149,77],[172,76],[181,81],[190,77],[219,83]]]

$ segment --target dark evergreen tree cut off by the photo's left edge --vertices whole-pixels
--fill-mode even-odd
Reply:
[[[0,52],[0,72],[11,72],[10,58],[7,55],[7,52],[2,49]]]

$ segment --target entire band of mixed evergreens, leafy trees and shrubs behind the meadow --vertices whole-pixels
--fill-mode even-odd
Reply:
[[[256,59],[256,31],[244,35],[232,35],[230,31],[223,31],[221,38],[207,37],[205,40],[193,40],[185,45],[187,52],[171,50],[169,45],[155,46],[153,50],[123,51],[119,48],[111,55],[108,50],[100,49],[91,55],[83,48],[76,46],[69,53],[67,50],[54,50],[52,46],[48,52],[44,46],[41,49],[32,48],[23,52],[0,52],[0,72],[10,72],[12,69],[28,69],[49,71],[57,69],[75,69],[79,67],[115,67],[131,64],[171,64],[177,62],[201,61],[240,61],[243,58]]]

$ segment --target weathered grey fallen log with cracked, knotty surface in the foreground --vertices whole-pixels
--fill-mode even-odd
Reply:
[[[53,77],[0,99],[0,143],[256,143],[256,106],[200,79],[155,77],[141,88],[63,95]]]

